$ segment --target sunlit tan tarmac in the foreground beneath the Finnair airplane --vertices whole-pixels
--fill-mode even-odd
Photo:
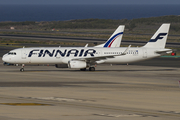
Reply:
[[[0,64],[1,120],[180,118],[179,59],[98,65],[94,72],[54,66],[19,69]]]

